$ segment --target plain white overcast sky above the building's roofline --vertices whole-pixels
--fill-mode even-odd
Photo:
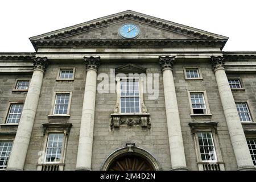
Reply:
[[[256,51],[255,0],[1,0],[0,52],[34,52],[31,36],[133,10],[228,36],[223,51]]]

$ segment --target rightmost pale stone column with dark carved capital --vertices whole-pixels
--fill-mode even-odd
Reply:
[[[211,63],[215,73],[218,92],[220,93],[221,103],[228,125],[230,139],[237,160],[238,170],[255,169],[251,160],[250,151],[247,146],[242,124],[237,113],[233,94],[229,86],[228,78],[224,69],[224,57],[212,56]]]

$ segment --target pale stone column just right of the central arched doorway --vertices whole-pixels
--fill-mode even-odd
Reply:
[[[166,103],[166,119],[171,153],[171,170],[187,170],[174,77],[172,75],[174,61],[175,56],[159,56],[159,63],[163,71],[164,101]]]

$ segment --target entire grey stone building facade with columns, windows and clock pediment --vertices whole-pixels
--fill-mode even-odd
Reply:
[[[256,52],[130,10],[30,40],[0,53],[0,169],[255,169]]]

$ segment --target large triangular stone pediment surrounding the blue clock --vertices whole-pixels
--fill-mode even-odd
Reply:
[[[133,23],[141,28],[141,35],[137,39],[228,39],[222,35],[127,10],[34,36],[30,40],[122,39],[118,36],[118,29],[125,23]]]

